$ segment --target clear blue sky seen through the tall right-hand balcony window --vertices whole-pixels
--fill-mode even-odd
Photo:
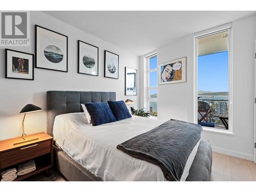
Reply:
[[[198,57],[198,90],[228,91],[228,51]]]

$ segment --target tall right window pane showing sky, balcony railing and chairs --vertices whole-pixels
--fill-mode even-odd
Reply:
[[[212,129],[231,125],[231,28],[197,36],[197,122]]]

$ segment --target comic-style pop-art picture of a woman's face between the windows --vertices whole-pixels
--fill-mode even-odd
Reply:
[[[186,57],[158,66],[158,84],[186,82]]]

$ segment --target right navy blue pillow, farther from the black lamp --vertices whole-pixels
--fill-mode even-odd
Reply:
[[[123,101],[108,101],[117,121],[132,117]]]

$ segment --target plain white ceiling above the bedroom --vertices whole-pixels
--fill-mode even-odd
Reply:
[[[44,11],[136,55],[255,11]],[[86,40],[86,39],[84,39]]]

